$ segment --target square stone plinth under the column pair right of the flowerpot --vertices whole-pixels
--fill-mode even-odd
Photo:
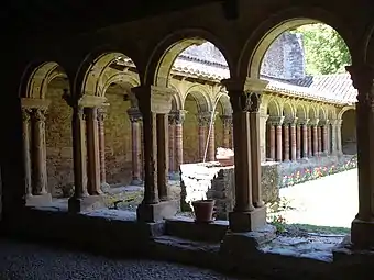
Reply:
[[[256,208],[250,212],[230,212],[230,229],[235,233],[253,232],[266,224],[266,208]]]

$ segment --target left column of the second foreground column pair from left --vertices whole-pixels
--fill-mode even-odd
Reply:
[[[87,150],[86,150],[86,123],[84,108],[73,108],[73,160],[74,160],[74,198],[69,200],[69,210],[80,211],[73,208],[74,199],[79,200],[88,197],[87,191]],[[80,206],[80,205],[79,205]]]

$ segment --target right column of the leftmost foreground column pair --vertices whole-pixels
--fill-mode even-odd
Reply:
[[[33,111],[33,194],[47,193],[45,110]]]

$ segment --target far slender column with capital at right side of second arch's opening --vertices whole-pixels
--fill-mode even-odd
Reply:
[[[141,121],[142,114],[138,108],[128,109],[128,115],[131,122],[131,161],[132,161],[132,182],[131,184],[142,184],[142,139],[141,139]]]

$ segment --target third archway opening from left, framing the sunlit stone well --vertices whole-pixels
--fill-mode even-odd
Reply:
[[[188,204],[190,209],[194,200],[220,199],[218,192],[211,190],[215,184],[211,181],[222,168],[216,157],[217,148],[232,145],[232,110],[220,83],[227,78],[230,69],[224,55],[215,44],[201,38],[183,40],[166,47],[156,70],[156,86],[173,88],[176,99],[182,100],[180,107],[172,112],[169,135],[175,137],[169,138],[169,145],[175,149],[172,152],[175,158],[169,160],[175,165],[169,166],[174,166],[170,173],[180,170],[182,176],[176,179],[185,193],[180,198],[183,208]],[[204,172],[207,176],[199,178]],[[222,215],[228,214],[227,210],[223,212]]]

